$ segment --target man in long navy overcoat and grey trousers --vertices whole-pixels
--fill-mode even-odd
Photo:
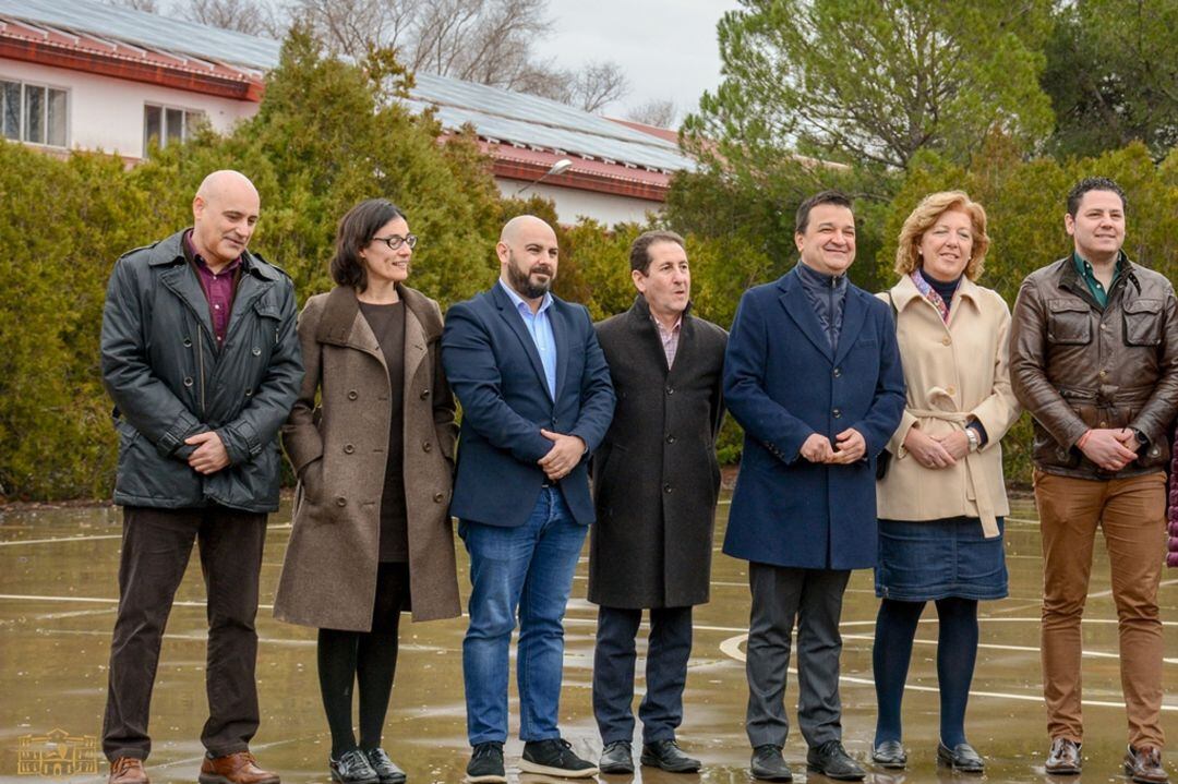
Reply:
[[[839,618],[851,570],[875,565],[875,459],[900,424],[905,387],[888,306],[846,272],[851,201],[826,191],[798,210],[801,263],[741,298],[724,399],[744,451],[724,552],[749,562],[746,730],[755,778],[790,780],[781,756],[789,636],[798,622],[798,720],[807,766],[858,780],[842,748]]]

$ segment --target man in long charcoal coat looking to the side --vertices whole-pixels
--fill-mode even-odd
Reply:
[[[720,490],[715,438],[728,334],[690,313],[683,238],[647,232],[630,247],[638,295],[597,324],[617,396],[594,456],[597,524],[589,600],[600,605],[594,715],[603,773],[634,771],[635,636],[650,611],[642,764],[693,772],[700,760],[675,740],[691,652],[691,606],[708,600],[712,532]]]

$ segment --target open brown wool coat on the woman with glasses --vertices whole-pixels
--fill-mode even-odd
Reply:
[[[461,607],[448,507],[457,426],[442,371],[442,312],[412,288],[398,285],[397,291],[405,303],[404,471],[413,620],[454,618]],[[274,617],[369,631],[391,416],[389,371],[351,287],[310,298],[298,335],[306,376],[283,426],[283,445],[299,483]]]

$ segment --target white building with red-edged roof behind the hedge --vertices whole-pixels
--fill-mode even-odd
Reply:
[[[251,117],[279,51],[97,0],[0,0],[0,135],[139,160],[148,139],[183,139],[198,118],[227,132]],[[671,174],[694,165],[668,132],[534,95],[419,73],[409,102],[432,107],[448,133],[472,125],[501,191],[550,198],[564,222],[641,221],[662,207]]]

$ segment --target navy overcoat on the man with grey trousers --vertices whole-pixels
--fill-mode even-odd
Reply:
[[[724,356],[724,401],[744,452],[724,552],[799,569],[865,569],[879,556],[875,459],[904,413],[892,311],[847,286],[834,351],[796,272],[744,292]],[[862,433],[867,458],[801,457],[812,433]]]

